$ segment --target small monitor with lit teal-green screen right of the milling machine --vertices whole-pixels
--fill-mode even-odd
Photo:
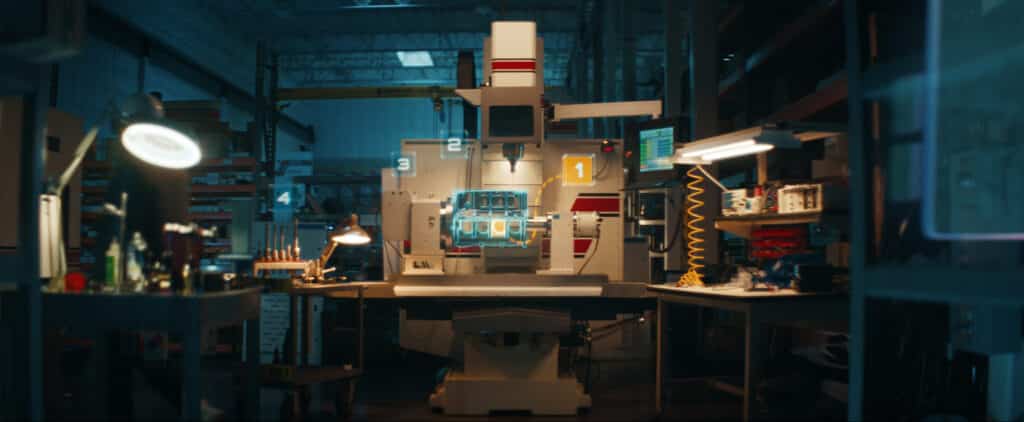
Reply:
[[[683,135],[679,119],[635,123],[626,133],[624,159],[629,184],[654,184],[678,178],[673,165],[676,145]]]

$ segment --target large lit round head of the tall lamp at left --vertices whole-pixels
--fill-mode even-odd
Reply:
[[[121,107],[121,144],[148,164],[185,169],[199,164],[203,154],[191,136],[177,130],[164,118],[164,104],[147,94],[126,98]]]

